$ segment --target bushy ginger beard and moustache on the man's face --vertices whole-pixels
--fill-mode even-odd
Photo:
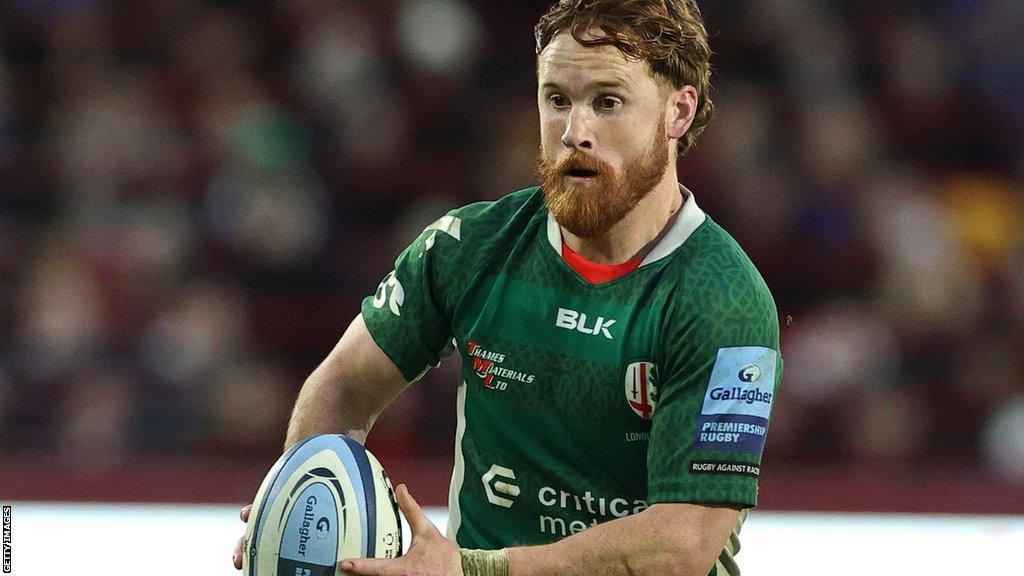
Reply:
[[[548,211],[565,230],[579,238],[595,238],[608,232],[643,200],[669,166],[669,138],[660,123],[651,145],[626,163],[623,173],[606,162],[577,149],[552,162],[541,149],[538,172]],[[582,186],[568,183],[571,174],[595,174]]]

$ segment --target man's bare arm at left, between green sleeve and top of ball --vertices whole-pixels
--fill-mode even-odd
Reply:
[[[365,444],[377,416],[408,385],[398,367],[370,335],[362,315],[356,316],[302,384],[285,450],[317,434],[341,433]]]

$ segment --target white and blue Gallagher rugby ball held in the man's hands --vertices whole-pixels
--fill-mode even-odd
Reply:
[[[242,573],[342,576],[342,560],[398,556],[401,517],[384,468],[358,442],[322,435],[285,452],[260,485]]]

